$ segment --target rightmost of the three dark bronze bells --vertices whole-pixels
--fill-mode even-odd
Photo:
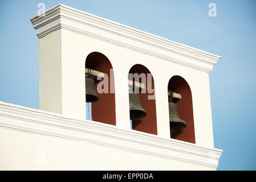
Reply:
[[[169,97],[169,121],[170,131],[182,130],[186,127],[186,122],[178,117],[177,105],[172,102],[173,93]]]

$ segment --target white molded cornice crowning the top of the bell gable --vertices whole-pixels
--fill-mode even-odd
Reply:
[[[221,58],[61,4],[46,10],[45,16],[35,15],[30,20],[38,38],[64,28],[205,72]]]

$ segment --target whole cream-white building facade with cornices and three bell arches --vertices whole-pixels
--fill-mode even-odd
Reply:
[[[39,110],[0,102],[0,169],[216,170],[222,150],[214,148],[209,72],[220,56],[65,5],[30,20],[39,38]],[[92,121],[86,67],[111,68],[114,85],[92,104]],[[155,99],[141,95],[148,115],[131,129],[125,88],[138,70],[152,74]],[[169,88],[182,96],[181,133],[170,132]]]

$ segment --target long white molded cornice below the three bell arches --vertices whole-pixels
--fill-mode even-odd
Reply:
[[[218,166],[222,150],[205,148],[175,139],[94,121],[81,121],[64,115],[0,102],[0,127],[34,134],[82,140],[141,154],[180,160],[202,166]]]

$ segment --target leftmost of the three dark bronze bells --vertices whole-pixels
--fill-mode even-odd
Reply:
[[[86,102],[96,102],[99,100],[99,96],[95,91],[94,80],[91,76],[86,75]]]

